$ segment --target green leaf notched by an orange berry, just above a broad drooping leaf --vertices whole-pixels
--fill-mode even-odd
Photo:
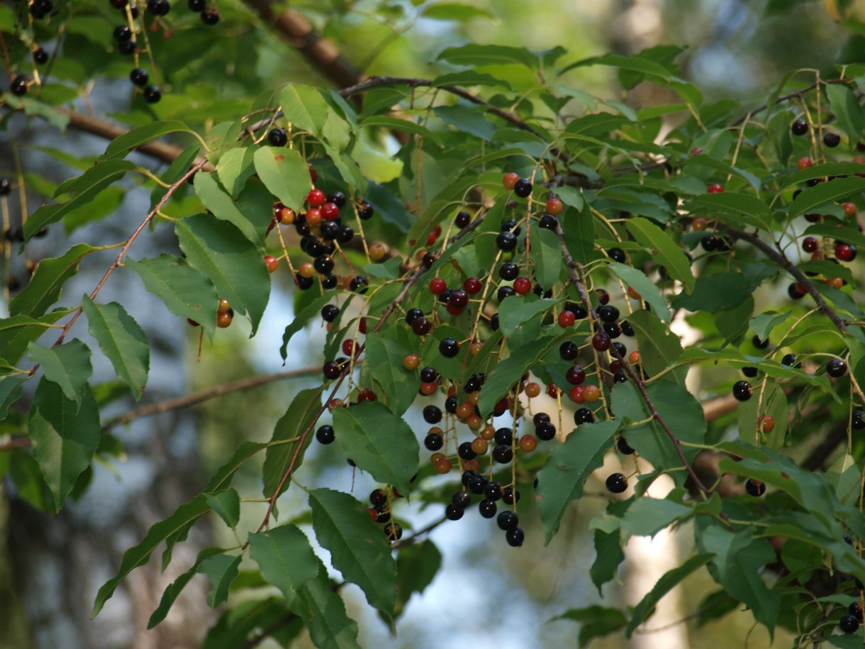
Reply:
[[[402,359],[411,353],[404,344],[380,334],[367,334],[364,350],[373,381],[380,389],[381,402],[394,414],[402,415],[418,395],[417,376],[402,366]]]

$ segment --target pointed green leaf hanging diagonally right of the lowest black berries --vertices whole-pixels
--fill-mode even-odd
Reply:
[[[604,463],[604,453],[612,448],[619,427],[612,420],[583,424],[550,451],[547,464],[538,472],[537,487],[538,512],[547,531],[545,544],[559,530],[568,505],[582,496],[589,475]]]

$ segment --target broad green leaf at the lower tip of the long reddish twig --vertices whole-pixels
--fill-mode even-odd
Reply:
[[[383,535],[382,535],[383,536]],[[300,588],[318,575],[319,561],[309,539],[295,525],[281,525],[249,535],[249,556],[259,564],[265,581],[279,588],[296,614],[308,618]]]

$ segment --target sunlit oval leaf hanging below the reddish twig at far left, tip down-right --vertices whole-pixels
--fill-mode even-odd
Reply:
[[[151,365],[151,346],[144,330],[118,302],[98,305],[85,295],[81,308],[87,317],[90,335],[96,338],[114,372],[138,401],[147,385]]]

